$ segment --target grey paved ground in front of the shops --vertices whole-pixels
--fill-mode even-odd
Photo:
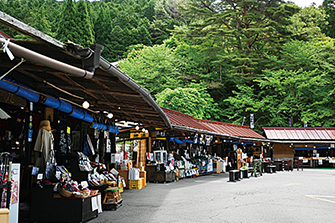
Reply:
[[[150,183],[122,193],[102,222],[335,222],[335,170],[304,169],[227,182],[228,174]]]

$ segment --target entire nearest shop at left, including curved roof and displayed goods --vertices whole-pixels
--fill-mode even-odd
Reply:
[[[169,127],[168,119],[145,89],[100,57],[103,46],[65,44],[8,15],[0,23],[33,39],[0,33],[0,162],[2,173],[12,173],[1,184],[11,188],[11,202],[0,188],[9,221],[83,222],[117,209],[124,181],[107,165],[116,123]]]

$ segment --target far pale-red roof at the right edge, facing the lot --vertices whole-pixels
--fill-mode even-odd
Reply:
[[[334,140],[334,127],[263,127],[268,139]]]

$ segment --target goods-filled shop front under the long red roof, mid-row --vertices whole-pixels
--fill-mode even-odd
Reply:
[[[152,138],[152,147],[147,153],[148,181],[178,181],[224,172],[225,161],[213,152],[213,135],[177,130],[155,134],[157,137]],[[162,134],[164,138],[159,137]]]

